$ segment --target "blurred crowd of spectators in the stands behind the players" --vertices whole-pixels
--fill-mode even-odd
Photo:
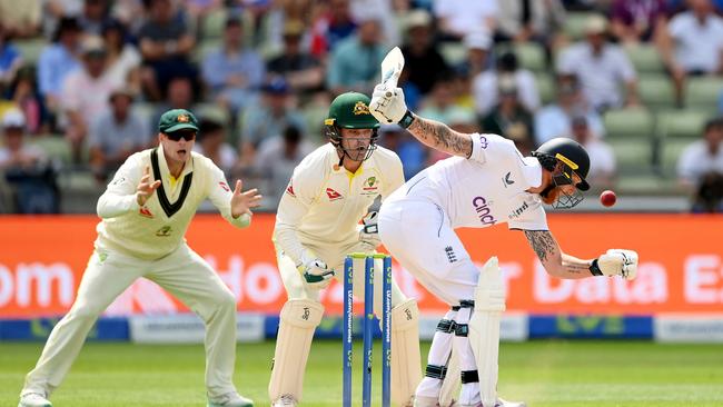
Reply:
[[[101,191],[170,108],[197,113],[198,151],[273,210],[326,142],[330,100],[370,95],[394,46],[420,116],[523,153],[570,137],[598,189],[672,179],[694,210],[720,211],[722,12],[723,0],[0,0],[0,212],[63,210],[73,185]],[[444,158],[397,126],[379,132],[406,177]]]

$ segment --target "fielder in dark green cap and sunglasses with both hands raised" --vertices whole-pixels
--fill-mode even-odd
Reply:
[[[78,356],[88,331],[136,279],[155,281],[206,324],[206,388],[209,407],[251,407],[231,383],[236,356],[236,298],[184,239],[206,199],[238,228],[251,222],[256,190],[226,183],[214,162],[192,152],[196,118],[187,110],[165,112],[159,147],[130,156],[98,200],[96,249],[78,296],[52,329],[40,360],[26,377],[19,407],[50,407],[50,394]]]

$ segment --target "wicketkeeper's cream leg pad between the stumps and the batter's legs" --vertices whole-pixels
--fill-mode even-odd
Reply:
[[[419,308],[408,299],[392,309],[392,403],[410,406],[422,380]]]

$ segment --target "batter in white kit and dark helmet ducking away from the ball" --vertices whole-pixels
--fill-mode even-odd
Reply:
[[[435,332],[415,406],[449,405],[439,396],[453,349],[462,370],[453,378],[462,381],[457,406],[524,406],[496,394],[499,318],[505,310],[497,258],[477,269],[454,229],[507,222],[525,234],[552,276],[635,278],[635,251],[612,249],[596,259],[578,259],[563,252],[547,227],[543,204],[574,207],[583,199],[581,191],[590,188],[587,152],[573,140],[557,138],[523,157],[501,136],[460,133],[412,113],[396,87],[377,86],[369,109],[379,121],[398,122],[423,143],[454,156],[407,181],[384,201],[378,216],[384,246],[452,306]]]

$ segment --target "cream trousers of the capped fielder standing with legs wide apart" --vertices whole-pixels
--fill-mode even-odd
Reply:
[[[236,391],[236,298],[211,267],[186,244],[158,260],[96,249],[70,311],[50,332],[21,395],[49,396],[68,374],[98,316],[136,279],[145,277],[176,296],[206,324],[206,387],[209,398]]]

